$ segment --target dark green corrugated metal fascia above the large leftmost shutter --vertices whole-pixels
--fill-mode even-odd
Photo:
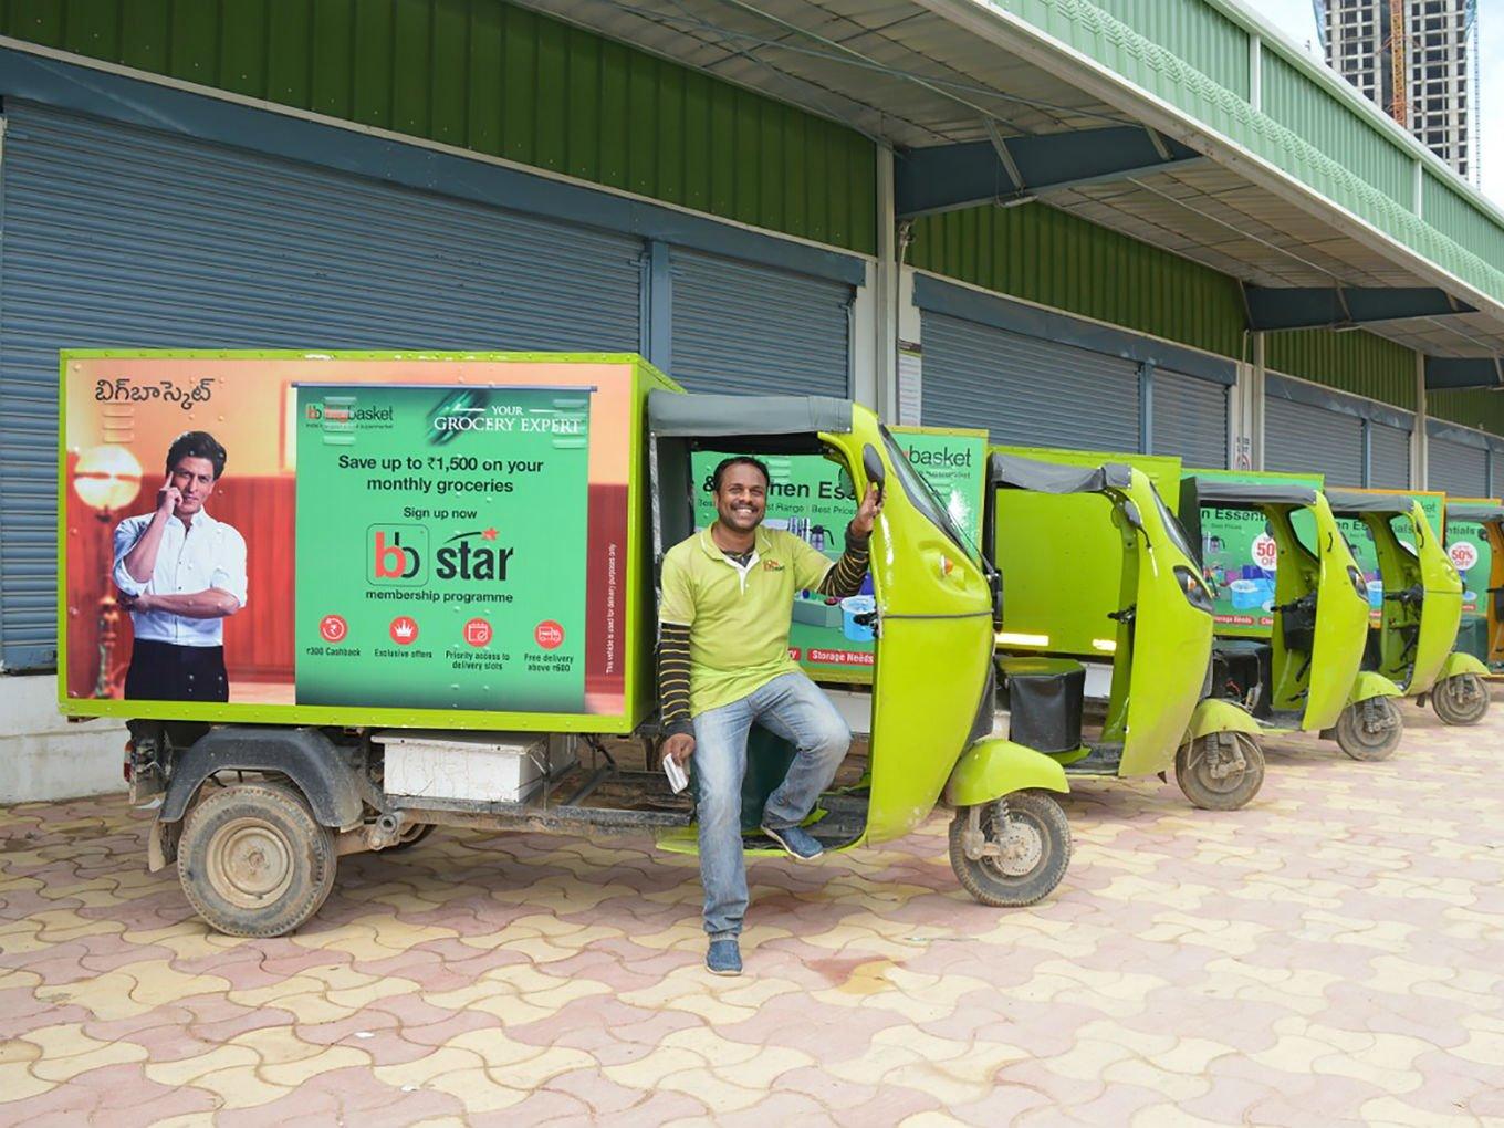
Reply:
[[[868,138],[501,0],[0,0],[0,35],[875,251]]]

